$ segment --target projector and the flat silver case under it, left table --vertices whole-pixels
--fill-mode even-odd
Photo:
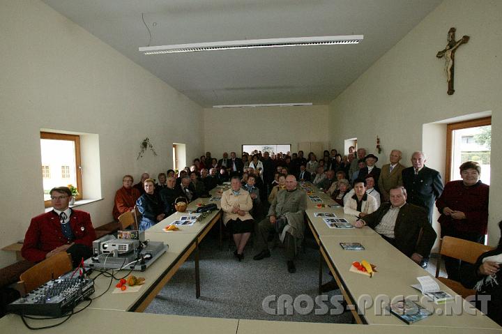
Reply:
[[[140,241],[103,236],[93,241],[93,257],[84,264],[89,268],[132,269],[145,271],[167,252],[168,245],[160,241]]]

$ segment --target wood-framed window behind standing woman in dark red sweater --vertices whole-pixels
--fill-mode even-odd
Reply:
[[[461,179],[460,165],[476,161],[481,165],[481,181],[490,184],[492,118],[450,123],[446,130],[446,181]]]

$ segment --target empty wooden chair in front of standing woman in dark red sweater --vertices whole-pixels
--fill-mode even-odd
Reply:
[[[466,289],[460,282],[450,280],[448,278],[439,277],[439,270],[441,269],[441,256],[444,255],[447,257],[453,257],[461,261],[469,262],[470,264],[476,264],[476,260],[478,259],[478,257],[480,257],[480,255],[482,255],[482,253],[492,249],[493,248],[490,246],[475,243],[473,241],[453,238],[452,236],[443,237],[439,248],[436,278],[443,282],[443,284],[445,284],[447,287],[455,291],[457,294],[462,296],[462,298],[476,294],[476,291],[474,291],[473,289]]]

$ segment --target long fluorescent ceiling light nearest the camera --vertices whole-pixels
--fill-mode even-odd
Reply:
[[[169,54],[178,52],[253,49],[257,47],[292,47],[292,46],[302,46],[302,45],[357,44],[361,40],[363,40],[363,35],[268,38],[261,40],[227,40],[225,42],[139,47],[139,52],[143,52],[144,54]]]

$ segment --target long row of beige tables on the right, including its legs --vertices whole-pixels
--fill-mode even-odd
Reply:
[[[314,187],[310,187],[315,189]],[[318,190],[315,195],[324,201],[324,208],[317,207],[317,204],[308,205],[307,225],[312,231],[314,238],[319,244],[320,264],[319,264],[319,294],[321,286],[321,274],[324,262],[328,265],[333,278],[340,287],[344,300],[347,301],[348,309],[351,310],[354,319],[358,324],[372,325],[401,325],[402,321],[392,314],[381,314],[381,308],[375,305],[367,306],[363,301],[375,301],[377,296],[388,296],[390,300],[398,296],[419,296],[419,291],[411,287],[411,284],[417,284],[419,276],[429,275],[429,272],[418,266],[413,260],[409,259],[396,250],[393,245],[385,241],[377,232],[370,227],[361,229],[332,229],[323,221],[323,218],[315,217],[316,212],[335,213],[338,218],[345,218],[349,222],[354,222],[356,217],[345,215],[343,208],[330,208],[329,205],[335,204],[333,199]],[[361,243],[365,250],[349,251],[343,250],[340,243],[347,242]],[[377,273],[372,278],[349,271],[353,261],[366,259],[372,264],[377,265]],[[451,294],[457,296],[454,291],[446,287],[439,280],[439,287]],[[399,297],[398,297],[399,298]],[[458,298],[458,297],[457,297]],[[434,305],[434,314],[427,319],[418,321],[411,326],[441,326],[446,328],[499,328],[494,321],[459,298],[459,306],[462,314],[447,315],[446,308],[451,306],[448,303],[443,305]],[[465,310],[473,314],[468,314]],[[452,312],[450,312],[452,313]]]

